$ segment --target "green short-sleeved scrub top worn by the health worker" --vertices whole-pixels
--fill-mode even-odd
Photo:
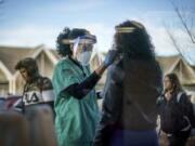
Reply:
[[[90,76],[89,66],[82,70],[68,57],[55,66],[52,83],[56,94],[54,101],[55,129],[60,146],[90,146],[100,119],[95,90],[82,99],[77,99],[64,90],[74,83],[82,82]]]

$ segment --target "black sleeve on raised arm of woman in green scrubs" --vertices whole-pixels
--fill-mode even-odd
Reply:
[[[100,78],[101,77],[98,76],[94,71],[81,83],[75,83],[69,85],[67,89],[65,89],[65,92],[78,99],[81,99],[94,88]]]

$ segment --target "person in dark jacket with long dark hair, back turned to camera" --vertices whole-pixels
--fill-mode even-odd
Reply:
[[[114,42],[118,58],[108,69],[93,146],[158,146],[162,77],[150,36],[142,24],[127,21],[116,26]]]

